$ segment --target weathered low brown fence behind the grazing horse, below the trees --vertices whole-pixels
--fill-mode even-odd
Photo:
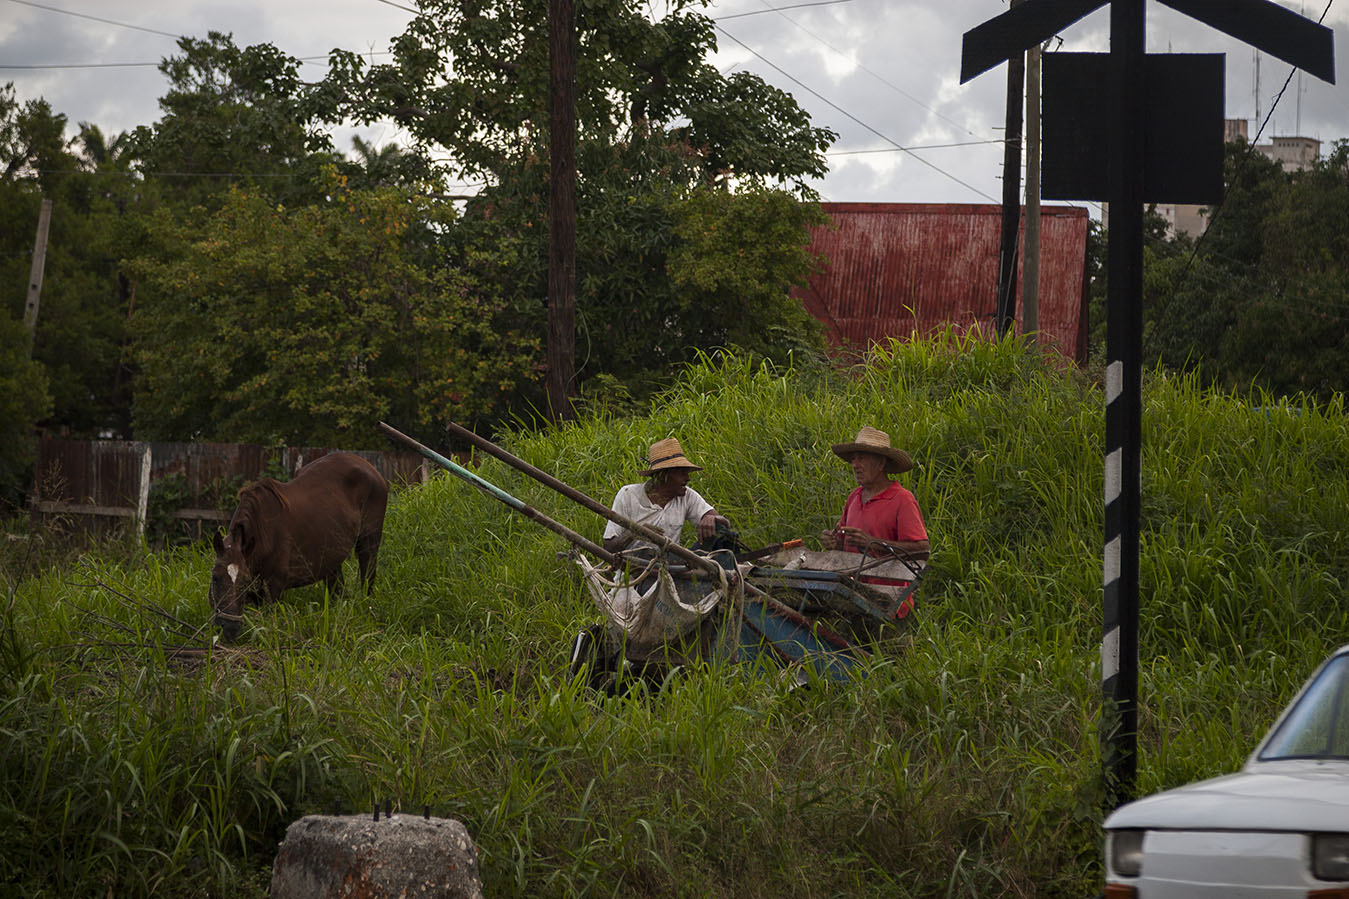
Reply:
[[[30,510],[49,526],[107,532],[147,522],[169,540],[200,537],[228,522],[246,483],[289,481],[306,462],[335,450],[232,443],[62,440],[38,443]],[[368,459],[395,487],[424,483],[430,463],[414,452],[348,451]]]

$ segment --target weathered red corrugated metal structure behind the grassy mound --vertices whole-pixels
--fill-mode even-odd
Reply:
[[[836,347],[931,333],[947,325],[993,333],[1002,207],[826,202],[812,231],[826,269],[797,296]],[[1024,243],[1025,223],[1021,225]],[[1040,209],[1040,342],[1086,360],[1087,211]],[[1018,271],[1024,270],[1024,263]],[[1017,285],[1017,331],[1021,331]]]

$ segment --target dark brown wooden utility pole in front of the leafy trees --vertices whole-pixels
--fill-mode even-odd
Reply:
[[[548,405],[573,417],[576,374],[576,19],[572,0],[548,1],[549,232]]]

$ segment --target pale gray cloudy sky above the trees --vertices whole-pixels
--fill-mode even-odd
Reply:
[[[540,0],[542,3],[542,0]],[[411,13],[407,0],[0,0],[0,82],[20,100],[45,97],[71,124],[104,132],[158,119],[165,80],[155,65],[174,35],[228,31],[240,46],[272,43],[313,58],[324,74],[332,47],[382,54]],[[650,0],[658,15],[664,0]],[[1290,66],[1149,3],[1152,53],[1225,53],[1226,115],[1255,135],[1300,134],[1329,144],[1349,138],[1349,0],[1283,5],[1336,31],[1337,84]],[[816,185],[831,201],[998,202],[1006,66],[959,84],[960,36],[1006,9],[1005,0],[716,0],[723,72],[750,70],[792,93],[815,124],[839,134],[831,173]],[[1056,49],[1109,49],[1102,8],[1067,28]],[[376,55],[376,61],[387,55]],[[1257,74],[1259,73],[1259,74]],[[1282,99],[1276,97],[1283,90]],[[1259,116],[1259,120],[1257,120]],[[349,131],[339,148],[351,150]],[[398,140],[391,127],[367,140]]]

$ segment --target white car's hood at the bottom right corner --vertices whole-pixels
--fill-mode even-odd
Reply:
[[[1108,830],[1349,830],[1349,761],[1257,761],[1121,806]]]

